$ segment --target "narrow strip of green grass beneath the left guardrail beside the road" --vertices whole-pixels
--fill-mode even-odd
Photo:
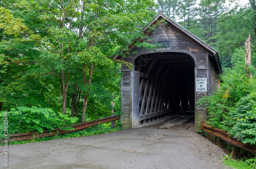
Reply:
[[[90,135],[97,135],[97,134],[105,134],[115,131],[120,131],[122,128],[109,128],[106,127],[104,124],[99,124],[97,126],[89,127],[83,131],[74,131],[71,133],[65,133],[60,135],[53,135],[49,137],[42,137],[37,139],[29,139],[24,141],[16,141],[16,142],[9,142],[8,145],[19,145],[19,144],[27,144],[27,143],[34,143],[34,142],[44,142],[53,139],[62,139],[62,138],[73,138],[73,137],[82,137],[82,136],[90,136]],[[5,145],[5,143],[0,143],[0,146]]]

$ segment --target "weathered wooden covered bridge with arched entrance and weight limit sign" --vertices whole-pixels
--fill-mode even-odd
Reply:
[[[195,103],[219,86],[222,69],[218,52],[161,12],[148,25],[162,18],[167,25],[162,23],[147,35],[151,39],[148,43],[158,42],[161,47],[148,50],[130,46],[129,53],[136,54],[115,57],[134,65],[132,69],[122,65],[121,122],[125,127],[187,110],[193,111],[195,124],[205,121],[205,107],[195,108]]]

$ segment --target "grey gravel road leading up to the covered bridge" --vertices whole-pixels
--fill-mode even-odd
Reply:
[[[0,146],[4,159],[4,146]],[[8,146],[0,168],[228,168],[225,152],[187,130],[125,129],[96,136]]]

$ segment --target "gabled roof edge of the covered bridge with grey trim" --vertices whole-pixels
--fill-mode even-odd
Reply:
[[[204,41],[202,41],[200,38],[198,38],[197,36],[195,36],[194,34],[192,34],[191,32],[189,32],[188,30],[186,30],[183,26],[181,26],[179,23],[175,22],[174,20],[170,19],[168,16],[166,16],[165,14],[163,14],[162,12],[159,12],[154,18],[153,21],[148,23],[145,27],[143,27],[143,29],[141,31],[143,31],[145,33],[145,35],[149,34],[147,32],[148,30],[148,26],[152,26],[155,23],[157,23],[157,21],[160,21],[161,19],[165,19],[165,21],[167,22],[168,26],[172,27],[172,29],[174,29],[176,32],[178,32],[179,34],[181,34],[182,36],[184,36],[186,39],[188,39],[190,42],[194,43],[195,45],[197,45],[198,47],[200,47],[202,50],[206,51],[207,53],[209,53],[209,55],[211,57],[215,57],[215,60],[217,62],[218,68],[220,70],[220,72],[222,73],[222,69],[221,69],[221,63],[220,63],[220,58],[219,58],[219,54],[218,51],[215,50],[214,48],[212,48],[211,46],[209,46],[207,43],[205,43]],[[132,50],[134,46],[130,46],[130,50]],[[121,57],[121,55],[116,55],[114,57],[114,60],[121,60],[123,59],[123,57]]]

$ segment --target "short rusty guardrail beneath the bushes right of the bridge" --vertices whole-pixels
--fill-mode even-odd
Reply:
[[[228,134],[228,132],[226,132],[225,130],[221,130],[216,127],[208,126],[208,125],[204,124],[204,122],[201,122],[200,129],[224,140],[225,142],[227,142],[230,145],[247,150],[247,151],[251,152],[252,154],[256,155],[256,146],[252,146],[250,144],[243,144],[237,138],[234,138],[233,136]]]

